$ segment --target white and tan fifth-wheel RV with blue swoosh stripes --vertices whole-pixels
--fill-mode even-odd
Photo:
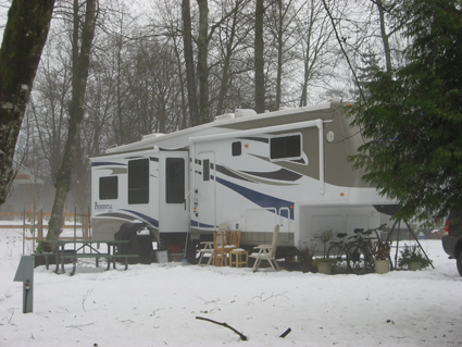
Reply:
[[[226,223],[250,247],[271,241],[278,224],[279,249],[290,250],[317,231],[378,226],[377,206],[394,201],[348,161],[363,138],[346,107],[236,110],[91,157],[93,238],[112,238],[137,220],[185,249]]]

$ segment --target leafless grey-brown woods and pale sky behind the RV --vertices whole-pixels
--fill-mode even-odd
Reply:
[[[10,1],[0,7],[5,23]],[[72,38],[84,10],[80,0],[55,2],[16,146],[16,163],[48,193],[66,140]],[[89,206],[88,157],[110,146],[237,108],[357,99],[373,69],[405,63],[402,23],[399,1],[385,0],[100,0],[71,205]]]

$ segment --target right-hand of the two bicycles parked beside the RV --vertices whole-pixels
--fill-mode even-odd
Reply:
[[[375,253],[377,245],[380,243],[378,230],[383,228],[386,224],[383,224],[376,228],[367,230],[365,232],[358,232],[354,236],[354,241],[350,244],[347,250],[348,268],[355,274],[362,274],[366,269],[372,271],[375,268]],[[375,233],[377,243],[375,246],[371,241],[371,234]]]

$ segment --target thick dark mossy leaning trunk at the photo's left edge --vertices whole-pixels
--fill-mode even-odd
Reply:
[[[0,205],[13,181],[13,157],[54,0],[13,0],[0,48]]]

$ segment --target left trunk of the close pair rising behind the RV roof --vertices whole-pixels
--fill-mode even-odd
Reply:
[[[188,106],[191,125],[199,124],[199,111],[196,95],[195,60],[192,54],[192,29],[189,0],[183,0],[183,40],[185,45],[186,84],[188,86]]]

